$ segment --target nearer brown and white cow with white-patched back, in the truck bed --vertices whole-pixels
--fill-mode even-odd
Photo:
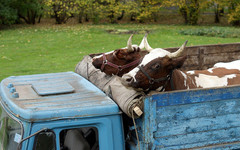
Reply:
[[[145,91],[156,89],[171,91],[240,84],[240,61],[217,63],[208,70],[181,71],[179,68],[187,58],[184,54],[187,41],[174,53],[161,48],[152,49],[147,40],[145,44],[150,53],[143,58],[141,64],[122,76],[123,84]]]

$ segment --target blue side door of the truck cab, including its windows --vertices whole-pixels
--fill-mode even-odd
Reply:
[[[34,123],[28,150],[113,150],[124,149],[122,128],[115,117],[93,117]],[[115,124],[116,123],[116,124]],[[113,124],[116,126],[113,127]],[[117,135],[117,136],[114,136]]]

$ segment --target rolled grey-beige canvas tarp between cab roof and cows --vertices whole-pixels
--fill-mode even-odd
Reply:
[[[121,110],[134,118],[138,118],[143,110],[143,92],[138,92],[131,87],[126,87],[121,83],[121,78],[116,75],[107,75],[100,69],[92,65],[92,57],[87,55],[80,61],[75,72],[92,82],[99,89],[111,97],[121,108]]]

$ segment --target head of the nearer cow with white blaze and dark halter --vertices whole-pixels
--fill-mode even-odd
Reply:
[[[155,90],[165,86],[173,70],[183,65],[186,60],[184,49],[187,41],[174,53],[161,48],[151,48],[146,38],[144,44],[149,54],[144,56],[136,68],[122,76],[122,82],[139,90]]]

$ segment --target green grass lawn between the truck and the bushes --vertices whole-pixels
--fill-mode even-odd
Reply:
[[[153,48],[178,47],[185,40],[189,41],[188,46],[240,42],[239,38],[180,34],[183,29],[197,28],[139,24],[16,26],[0,31],[0,80],[8,76],[74,71],[87,54],[125,47],[130,34],[106,32],[111,29],[151,30],[148,41]],[[139,44],[143,36],[134,35],[133,43]]]

